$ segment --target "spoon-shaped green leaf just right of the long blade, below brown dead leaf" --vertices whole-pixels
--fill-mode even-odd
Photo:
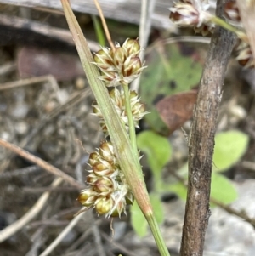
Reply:
[[[155,181],[161,179],[161,170],[170,160],[171,145],[167,138],[152,131],[144,131],[137,136],[137,145],[147,157]]]

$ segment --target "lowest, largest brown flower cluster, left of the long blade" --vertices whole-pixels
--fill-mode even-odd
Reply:
[[[85,210],[95,208],[106,217],[126,213],[127,204],[133,203],[133,194],[116,162],[111,143],[102,142],[99,149],[90,154],[88,164],[91,167],[87,177],[89,188],[80,192],[78,201]]]

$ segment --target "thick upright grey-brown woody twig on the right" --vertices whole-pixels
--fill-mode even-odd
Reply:
[[[222,16],[224,0],[217,1]],[[235,36],[217,27],[204,65],[190,130],[189,180],[181,256],[201,256],[210,216],[212,154],[224,74]]]

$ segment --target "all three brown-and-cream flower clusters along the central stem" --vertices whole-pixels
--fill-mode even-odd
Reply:
[[[136,127],[139,127],[139,120],[147,112],[144,111],[144,104],[140,103],[136,92],[129,92],[129,97],[126,98],[124,91],[117,89],[116,86],[127,86],[144,69],[139,53],[138,40],[127,39],[122,46],[116,43],[115,48],[101,48],[94,54],[94,64],[101,71],[99,79],[105,82],[105,86],[115,87],[109,94],[127,132],[129,126],[125,110],[126,100],[130,101]],[[94,115],[99,117],[99,124],[107,137],[108,130],[99,105],[95,103],[93,106]],[[78,201],[85,207],[84,210],[95,208],[97,213],[105,214],[106,217],[121,216],[122,213],[126,213],[127,204],[133,203],[133,193],[117,162],[111,143],[102,142],[99,149],[90,154],[88,164],[91,167],[87,178],[89,187],[81,191],[78,196]]]

